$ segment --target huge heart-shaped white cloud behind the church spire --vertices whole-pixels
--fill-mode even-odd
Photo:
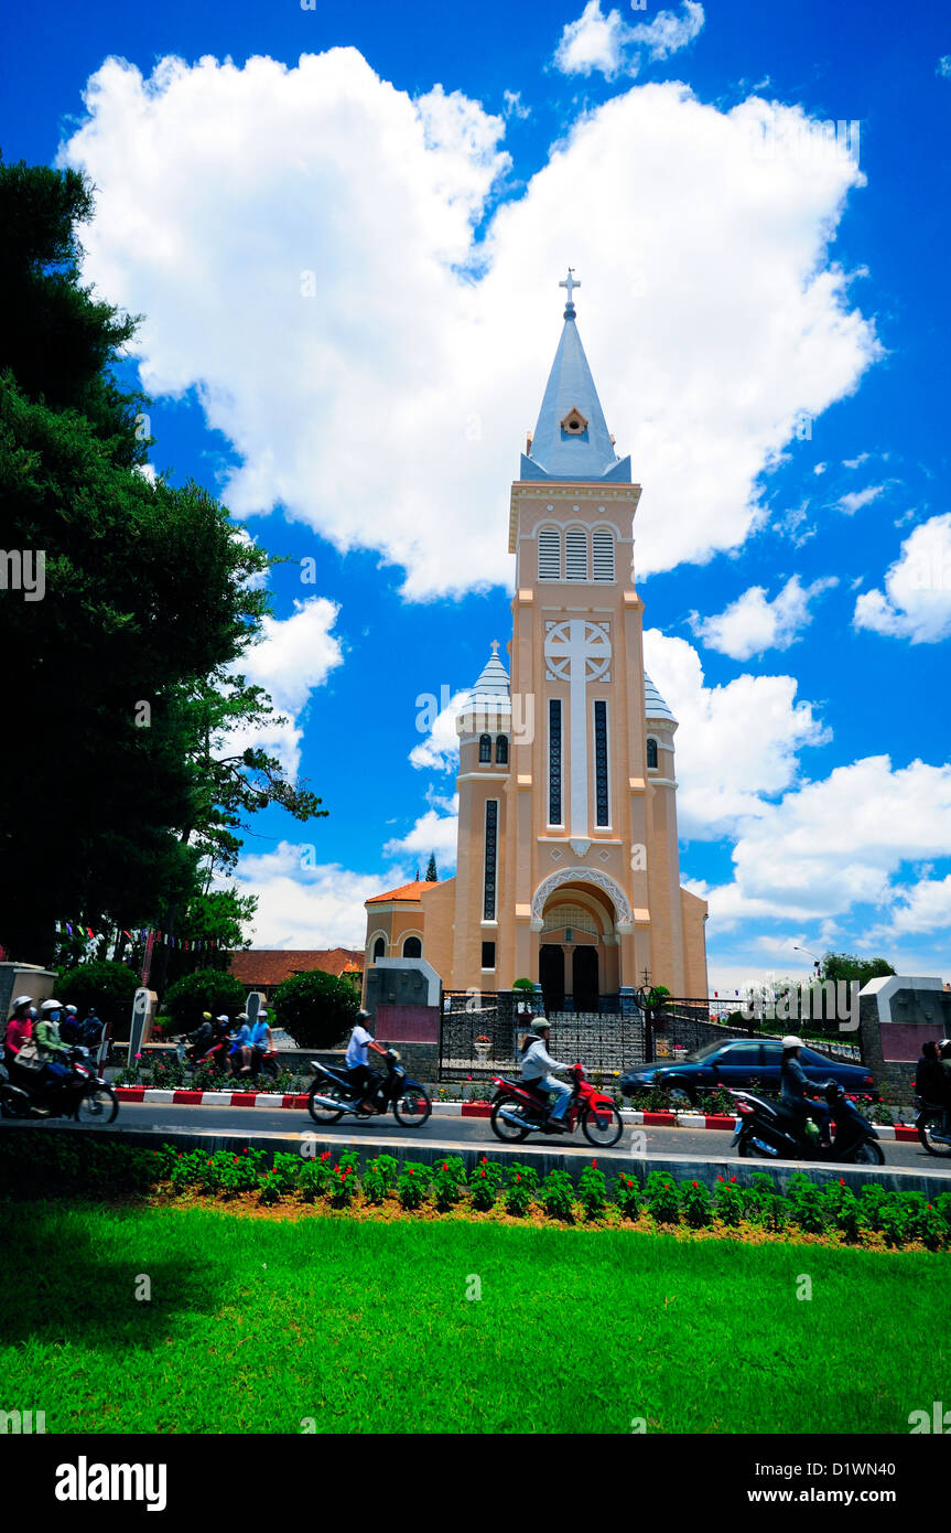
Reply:
[[[631,89],[582,113],[476,244],[504,120],[440,87],[413,101],[354,49],[294,69],[162,60],[149,81],[109,60],[86,104],[61,153],[98,189],[84,274],[147,316],[159,440],[161,397],[196,389],[237,458],[237,517],[282,507],[378,550],[413,599],[510,581],[507,484],[568,261],[645,484],[640,576],[740,547],[801,411],[877,354],[827,259],[862,176],[835,144],[801,155],[799,109]]]

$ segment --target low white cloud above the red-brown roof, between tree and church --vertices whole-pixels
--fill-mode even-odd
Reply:
[[[234,869],[239,894],[257,895],[254,947],[363,947],[363,901],[409,877],[404,869],[380,877],[338,863],[317,865],[314,846],[291,842],[263,855],[242,857]]]

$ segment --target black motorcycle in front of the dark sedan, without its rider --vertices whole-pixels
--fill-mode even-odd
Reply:
[[[885,1165],[877,1133],[835,1081],[828,1081],[824,1090],[835,1127],[832,1145],[821,1145],[818,1128],[806,1125],[778,1102],[764,1102],[749,1091],[730,1090],[730,1096],[737,1098],[740,1111],[730,1148],[744,1157]]]

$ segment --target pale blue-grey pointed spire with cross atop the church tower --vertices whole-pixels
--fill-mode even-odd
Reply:
[[[631,460],[614,452],[611,432],[600,408],[585,348],[574,317],[574,267],[559,284],[567,290],[565,325],[548,376],[545,397],[528,454],[522,454],[522,480],[620,480],[631,483]]]

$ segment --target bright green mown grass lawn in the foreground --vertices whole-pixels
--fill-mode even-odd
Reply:
[[[946,1271],[456,1217],[6,1203],[0,1406],[47,1432],[907,1433],[946,1395]]]

